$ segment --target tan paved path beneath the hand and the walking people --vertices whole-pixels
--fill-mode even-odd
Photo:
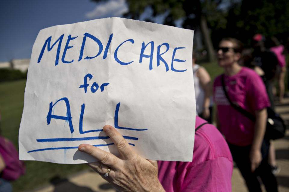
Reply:
[[[276,175],[279,192],[289,191],[289,98],[285,98],[282,104],[276,103],[276,112],[281,114],[281,117],[287,124],[286,136],[282,139],[275,140],[276,161],[281,171]],[[265,191],[264,186],[263,191]],[[115,192],[110,184],[108,184],[101,176],[92,170],[84,170],[76,175],[70,176],[67,179],[55,181],[54,184],[48,184],[33,192],[60,192],[60,191],[81,191],[81,192]],[[234,167],[232,176],[232,191],[247,192],[244,180],[239,170]]]

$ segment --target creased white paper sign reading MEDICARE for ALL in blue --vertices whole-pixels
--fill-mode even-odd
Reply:
[[[123,18],[42,29],[33,45],[19,130],[21,160],[96,161],[82,143],[119,155],[112,125],[144,158],[191,161],[193,30]]]

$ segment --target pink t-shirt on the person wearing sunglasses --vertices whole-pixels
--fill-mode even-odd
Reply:
[[[270,101],[261,77],[252,69],[242,67],[233,76],[224,76],[228,97],[234,103],[255,114],[270,106]],[[217,106],[220,130],[226,140],[237,146],[248,146],[253,142],[255,123],[235,110],[225,96],[221,76],[214,82],[213,97]]]

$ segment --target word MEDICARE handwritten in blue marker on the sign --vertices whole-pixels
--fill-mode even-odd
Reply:
[[[87,57],[85,57],[84,59],[93,59],[93,58],[97,57],[98,55],[100,55],[101,52],[102,52],[102,50],[103,50],[103,44],[101,43],[101,41],[100,41],[98,38],[96,38],[95,36],[93,36],[93,35],[91,35],[91,34],[89,34],[89,33],[85,33],[85,34],[83,34],[83,36],[84,36],[84,37],[83,37],[83,39],[82,39],[82,45],[81,45],[81,48],[80,48],[80,51],[79,51],[78,61],[81,61],[81,60],[82,60],[83,51],[84,51],[84,49],[85,49],[85,41],[86,41],[86,38],[90,38],[90,39],[92,39],[93,41],[95,41],[96,44],[98,44],[99,50],[98,50],[98,53],[97,53],[95,56],[92,56],[92,57],[87,56]],[[60,55],[60,50],[61,50],[61,44],[62,44],[63,37],[64,37],[64,34],[62,34],[62,35],[52,44],[52,46],[51,46],[51,38],[52,38],[52,36],[48,37],[48,38],[46,39],[45,43],[44,43],[43,46],[42,46],[42,49],[41,49],[41,52],[40,52],[40,54],[39,54],[37,63],[39,63],[39,62],[41,61],[41,58],[42,58],[42,56],[43,56],[43,54],[44,54],[44,51],[45,51],[46,46],[47,46],[47,51],[49,52],[49,51],[52,50],[52,48],[54,47],[54,45],[56,45],[57,42],[58,42],[57,52],[56,52],[56,58],[55,58],[55,66],[56,66],[56,65],[58,64],[58,62],[59,62],[59,55]],[[70,41],[72,41],[72,40],[74,40],[74,39],[76,39],[76,38],[78,38],[78,36],[76,36],[76,37],[71,37],[71,35],[68,35],[67,41],[66,41],[66,44],[65,44],[65,47],[64,47],[64,50],[63,50],[63,54],[62,54],[62,57],[61,57],[62,63],[72,63],[72,62],[74,61],[73,59],[72,59],[71,61],[66,61],[66,60],[65,60],[65,55],[66,55],[66,53],[67,53],[67,50],[73,47],[73,45],[72,45],[72,46],[69,46]],[[108,39],[107,44],[106,44],[106,47],[105,47],[105,49],[104,49],[104,54],[103,54],[102,59],[107,58],[107,52],[108,52],[110,43],[111,43],[111,41],[112,41],[112,38],[113,38],[113,33],[110,34],[110,36],[109,36],[109,39]],[[128,64],[134,62],[134,61],[124,62],[124,61],[120,61],[120,59],[119,59],[118,50],[119,50],[120,47],[121,47],[124,43],[126,43],[126,42],[130,42],[131,44],[134,44],[134,43],[135,43],[135,41],[134,41],[133,39],[128,39],[128,40],[126,40],[126,41],[123,41],[119,46],[117,46],[117,48],[115,49],[114,54],[113,54],[115,61],[117,61],[117,62],[118,62],[119,64],[121,64],[121,65],[128,65]],[[144,50],[148,47],[148,45],[151,45],[151,46],[150,46],[151,52],[150,52],[150,55],[145,55],[145,54],[144,54]],[[165,47],[166,47],[166,51],[165,51],[165,52],[160,53],[160,48],[161,48],[161,46],[165,46]],[[89,48],[87,48],[87,49],[89,49]],[[176,68],[174,67],[174,61],[175,61],[175,62],[185,62],[185,61],[186,61],[186,60],[181,60],[181,59],[175,58],[176,51],[177,51],[178,49],[185,49],[185,47],[175,47],[175,48],[174,48],[173,53],[172,53],[172,60],[171,60],[170,68],[171,68],[172,71],[175,71],[175,72],[184,72],[184,71],[186,71],[187,69],[178,70],[178,69],[176,69]],[[168,65],[167,61],[165,61],[165,60],[163,59],[162,55],[165,54],[168,50],[169,50],[169,44],[168,44],[168,43],[163,43],[163,44],[157,46],[157,66],[159,66],[159,65],[160,65],[160,61],[162,61],[163,64],[165,65],[166,71],[169,70],[169,65]],[[123,52],[129,52],[129,51],[123,51]],[[140,49],[140,55],[139,55],[139,63],[142,62],[143,58],[150,58],[149,69],[152,70],[152,69],[153,69],[153,54],[154,54],[154,41],[151,41],[151,42],[149,42],[148,44],[145,44],[144,42],[142,42],[142,44],[141,44],[141,49]]]

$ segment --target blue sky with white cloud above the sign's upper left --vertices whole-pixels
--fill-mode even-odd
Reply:
[[[61,24],[122,16],[125,0],[95,3],[90,0],[0,1],[0,62],[30,58],[39,30]]]

